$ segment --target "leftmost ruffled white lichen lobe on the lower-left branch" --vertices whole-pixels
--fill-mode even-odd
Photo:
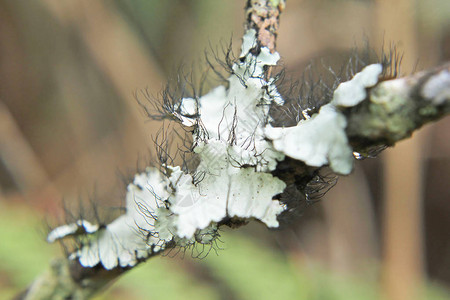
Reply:
[[[156,211],[164,207],[163,200],[168,197],[166,186],[167,179],[157,169],[149,168],[147,172],[137,174],[127,188],[127,211],[124,215],[104,227],[86,221],[75,224],[89,233],[89,241],[71,258],[78,259],[85,267],[101,263],[110,270],[117,266],[134,266],[151,253],[161,251],[164,241],[155,234],[154,223]],[[74,234],[74,229],[72,225],[58,227],[50,232],[47,239],[62,239],[68,234]]]

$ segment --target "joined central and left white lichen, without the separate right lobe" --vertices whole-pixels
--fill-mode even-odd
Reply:
[[[86,229],[88,242],[71,257],[86,267],[99,263],[106,269],[136,265],[161,251],[169,241],[186,246],[211,243],[217,223],[227,217],[259,219],[277,227],[285,206],[273,200],[285,183],[272,176],[284,155],[264,137],[270,105],[282,103],[273,84],[264,78],[264,66],[275,65],[278,53],[262,48],[250,53],[256,32],[244,36],[241,60],[233,66],[229,87],[219,86],[199,99],[184,98],[174,116],[185,126],[198,126],[193,152],[200,159],[195,172],[163,166],[136,175],[128,186],[127,212],[102,229]],[[206,137],[206,138],[205,138]],[[82,223],[80,223],[82,224]],[[78,226],[59,227],[49,240],[63,238]]]

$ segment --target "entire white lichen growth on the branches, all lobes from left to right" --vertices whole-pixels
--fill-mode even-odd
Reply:
[[[228,218],[258,219],[278,227],[277,216],[286,207],[274,198],[286,184],[271,174],[288,155],[307,165],[329,164],[337,173],[353,167],[346,119],[340,107],[364,100],[366,88],[375,85],[381,65],[371,65],[339,85],[331,103],[317,114],[290,128],[273,128],[269,109],[282,105],[267,66],[280,56],[262,47],[254,55],[255,30],[243,38],[241,56],[232,66],[228,88],[218,86],[199,98],[184,98],[173,115],[193,130],[193,153],[199,164],[193,173],[180,167],[161,166],[137,174],[128,185],[127,211],[106,226],[84,220],[56,228],[50,242],[81,234],[72,255],[85,267],[132,267],[171,246],[195,241],[212,243],[218,224]]]

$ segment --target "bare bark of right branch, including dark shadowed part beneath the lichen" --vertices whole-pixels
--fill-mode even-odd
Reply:
[[[345,133],[352,150],[361,157],[374,157],[450,112],[450,63],[381,81],[358,105],[338,110],[346,118]],[[322,170],[289,157],[278,163],[272,174],[286,183],[281,199],[290,210],[302,210],[332,188],[335,179],[321,175]],[[295,214],[287,210],[281,216],[292,219]]]

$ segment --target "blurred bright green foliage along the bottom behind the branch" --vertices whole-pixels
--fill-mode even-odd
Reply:
[[[42,230],[37,230],[41,228]],[[0,210],[0,299],[11,299],[61,253],[45,243],[45,225],[34,211],[21,205]],[[364,278],[333,274],[306,262],[293,263],[238,231],[225,232],[223,250],[204,259],[156,257],[131,270],[101,299],[378,299],[377,285]],[[199,264],[213,280],[199,276],[189,264]],[[187,266],[186,266],[187,265]],[[224,288],[225,287],[225,288]],[[229,293],[229,295],[224,295]],[[424,299],[450,299],[438,287]]]

